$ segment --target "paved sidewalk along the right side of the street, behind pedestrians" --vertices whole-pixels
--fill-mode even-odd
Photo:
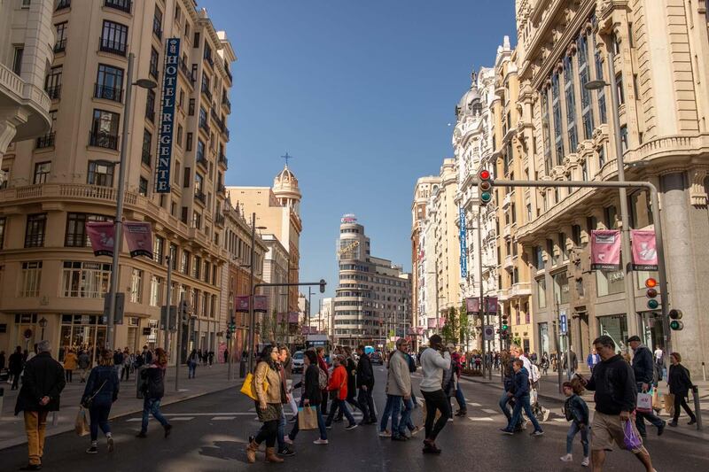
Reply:
[[[588,374],[582,374],[586,377],[588,377]],[[500,378],[500,373],[499,371],[495,372],[493,371],[492,379],[487,380],[487,378],[483,377],[477,377],[477,376],[468,376],[464,375],[463,377],[465,380],[469,382],[474,382],[474,383],[482,383],[485,384],[491,388],[496,388],[500,389],[501,391],[503,390],[503,382]],[[565,382],[566,377],[565,375],[562,378],[562,382]],[[549,375],[542,375],[540,379],[540,387],[538,390],[539,398],[543,398],[545,400],[550,400],[552,402],[557,402],[557,403],[564,403],[566,400],[566,397],[563,393],[559,393],[559,387],[558,387],[558,375],[557,373],[549,373]],[[705,439],[709,441],[709,381],[693,381],[697,387],[699,387],[699,405],[701,406],[701,411],[702,411],[702,422],[703,422],[703,430],[698,430],[695,429],[693,426],[687,426],[686,420],[687,414],[684,413],[682,410],[682,416],[680,416],[680,422],[679,426],[677,428],[670,428],[667,427],[665,430],[666,431],[672,431],[674,433],[678,433],[684,436],[690,436],[690,437],[696,437],[697,439]],[[658,391],[660,396],[668,393],[669,389],[667,388],[667,383],[666,382],[660,382],[658,385]],[[595,407],[594,401],[593,401],[593,392],[592,391],[586,391],[583,394],[583,399],[586,401],[588,404],[588,409],[593,410]],[[690,393],[690,408],[694,410],[694,397]],[[557,407],[557,406],[554,406]],[[666,411],[663,409],[659,416],[663,419],[666,420],[667,422],[670,421],[670,416],[669,414],[666,413]]]

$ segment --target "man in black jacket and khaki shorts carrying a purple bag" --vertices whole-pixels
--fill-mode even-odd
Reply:
[[[591,462],[594,472],[604,468],[605,452],[612,451],[615,442],[619,448],[626,449],[625,427],[633,430],[639,445],[631,449],[631,453],[643,463],[647,472],[652,472],[650,453],[643,446],[634,422],[631,422],[631,412],[635,410],[637,386],[633,368],[627,364],[620,354],[615,352],[615,342],[612,337],[604,335],[593,342],[601,361],[593,369],[591,378],[585,383],[589,391],[595,391],[596,413],[591,425]]]

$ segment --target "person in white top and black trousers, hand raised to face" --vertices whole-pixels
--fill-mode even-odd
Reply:
[[[440,454],[436,445],[436,437],[441,429],[446,426],[450,418],[450,403],[443,392],[443,371],[450,368],[450,353],[442,349],[442,340],[439,335],[429,338],[429,347],[421,353],[421,369],[424,379],[419,388],[424,396],[426,406],[424,453]],[[436,411],[440,411],[440,418],[433,424]]]

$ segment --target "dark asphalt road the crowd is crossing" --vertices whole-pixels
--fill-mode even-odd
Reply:
[[[375,397],[378,409],[384,407],[385,372],[377,369]],[[418,382],[420,375],[415,378]],[[526,470],[583,470],[580,467],[581,451],[577,439],[574,444],[573,465],[559,460],[565,453],[567,422],[562,418],[561,404],[545,405],[552,409],[549,421],[543,423],[545,436],[532,438],[526,434],[503,436],[503,414],[497,408],[499,390],[475,383],[464,382],[468,417],[456,418],[441,433],[438,445],[440,456],[421,453],[421,435],[406,443],[393,443],[377,436],[375,426],[362,426],[347,431],[345,423],[335,423],[328,431],[330,445],[313,445],[316,431],[303,431],[296,440],[296,455],[285,463],[265,464],[263,454],[258,462],[245,461],[247,437],[259,428],[253,413],[253,403],[238,391],[222,391],[200,398],[183,401],[164,408],[175,426],[168,439],[162,429],[151,421],[147,439],[134,436],[140,428],[138,415],[129,415],[112,422],[116,450],[107,453],[105,438],[99,433],[99,453],[86,454],[88,437],[66,433],[50,437],[44,450],[46,471],[100,472],[105,471],[234,471],[274,470],[290,471],[510,471]],[[120,400],[119,400],[120,401]],[[288,409],[286,409],[286,412]],[[414,419],[421,423],[421,409],[415,410]],[[287,426],[290,429],[291,425]],[[531,432],[531,427],[529,429]],[[676,434],[655,436],[649,427],[647,447],[655,468],[659,472],[682,470],[709,470],[707,445],[704,441]],[[261,448],[262,450],[262,448]],[[27,447],[16,446],[0,451],[0,470],[16,470],[27,463]],[[608,455],[605,470],[643,470],[630,453],[615,451]]]

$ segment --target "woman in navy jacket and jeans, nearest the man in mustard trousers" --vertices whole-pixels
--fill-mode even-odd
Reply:
[[[82,406],[89,409],[91,419],[91,445],[86,453],[98,453],[98,428],[105,434],[108,452],[113,453],[113,434],[108,424],[111,406],[118,399],[121,381],[113,368],[113,355],[104,350],[98,358],[98,367],[91,370],[83,390]]]

